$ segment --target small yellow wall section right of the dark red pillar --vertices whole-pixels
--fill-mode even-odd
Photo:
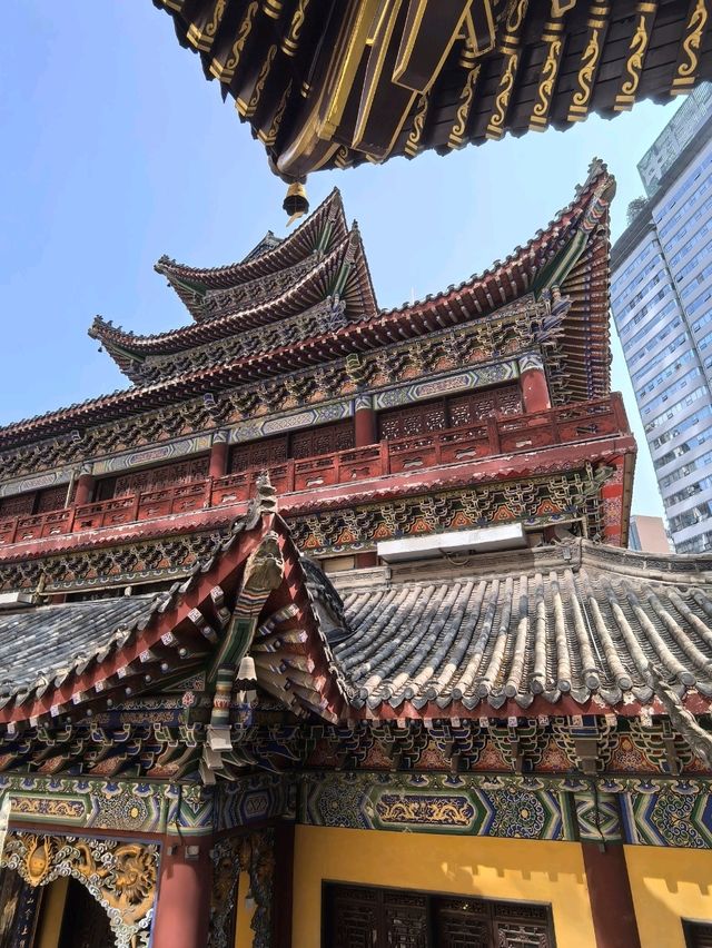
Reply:
[[[712,852],[626,846],[642,948],[684,948],[682,918],[712,922]]]

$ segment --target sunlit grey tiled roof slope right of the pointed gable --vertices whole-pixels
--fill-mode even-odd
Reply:
[[[354,631],[334,648],[336,662],[356,707],[376,714],[408,702],[528,708],[538,695],[645,704],[651,664],[681,695],[710,697],[712,556],[646,566],[581,541],[483,556],[448,576],[424,566],[365,587],[342,580]]]

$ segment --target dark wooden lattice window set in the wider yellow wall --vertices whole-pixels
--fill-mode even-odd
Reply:
[[[554,948],[550,906],[324,886],[323,948]]]

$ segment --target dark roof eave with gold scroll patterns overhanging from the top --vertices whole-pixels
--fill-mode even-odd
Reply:
[[[712,78],[709,0],[154,0],[297,188]]]

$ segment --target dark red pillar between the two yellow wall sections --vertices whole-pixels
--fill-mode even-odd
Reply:
[[[597,948],[641,948],[623,846],[582,842],[581,848]]]

